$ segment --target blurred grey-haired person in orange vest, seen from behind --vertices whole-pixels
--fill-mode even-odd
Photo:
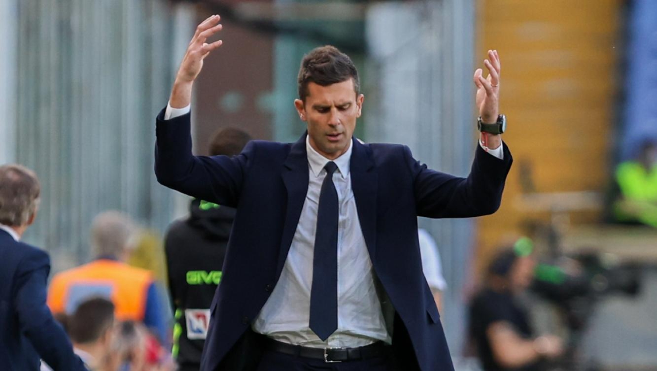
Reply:
[[[152,274],[125,263],[135,230],[135,222],[124,213],[97,215],[91,225],[96,259],[53,277],[48,291],[51,311],[70,315],[85,299],[106,297],[114,303],[118,320],[143,322],[160,341],[166,341],[169,332],[162,315],[166,303],[158,295]]]

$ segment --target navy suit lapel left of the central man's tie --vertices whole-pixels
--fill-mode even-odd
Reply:
[[[283,225],[283,236],[281,237],[281,251],[279,252],[277,274],[280,274],[283,270],[283,265],[288,251],[290,251],[290,244],[292,244],[292,238],[294,238],[294,232],[299,223],[299,217],[301,216],[308,191],[306,135],[307,132],[292,144],[290,154],[288,154],[283,164],[283,173],[281,173],[287,190],[287,207]]]

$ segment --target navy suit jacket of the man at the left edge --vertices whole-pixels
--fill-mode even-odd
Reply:
[[[0,230],[0,369],[86,370],[45,304],[50,258]]]

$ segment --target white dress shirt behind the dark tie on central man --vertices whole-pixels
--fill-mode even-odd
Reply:
[[[283,272],[256,318],[253,329],[269,338],[306,347],[360,347],[392,338],[386,329],[374,284],[372,262],[358,219],[349,171],[351,150],[333,160],[338,171],[333,183],[338,192],[338,329],[321,341],[308,327],[313,281],[313,249],[317,206],[327,171],[327,158],[317,153],[306,137],[308,190]]]

